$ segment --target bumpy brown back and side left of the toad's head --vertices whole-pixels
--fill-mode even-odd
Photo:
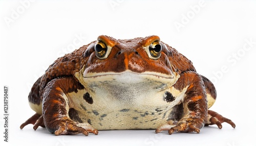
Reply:
[[[78,50],[75,50],[70,54],[66,54],[54,61],[46,70],[45,75],[40,77],[33,85],[29,93],[29,101],[33,104],[39,105],[43,98],[42,94],[44,93],[44,89],[51,80],[58,77],[74,78],[75,72],[78,72],[88,60],[88,58],[83,57],[88,46],[89,44],[84,45]]]

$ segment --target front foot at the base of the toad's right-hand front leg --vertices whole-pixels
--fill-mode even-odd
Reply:
[[[180,121],[169,120],[167,124],[163,124],[156,129],[156,133],[163,130],[168,130],[169,134],[174,132],[200,132],[199,124],[192,118],[183,119]]]

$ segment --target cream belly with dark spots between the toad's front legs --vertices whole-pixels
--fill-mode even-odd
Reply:
[[[92,97],[93,103],[90,104],[83,99],[87,91],[79,90],[68,94],[69,108],[76,110],[79,123],[89,123],[98,130],[156,129],[170,119],[172,108],[182,98],[178,96],[172,103],[167,103],[163,100],[165,91],[151,96],[138,94],[126,100],[103,94]]]

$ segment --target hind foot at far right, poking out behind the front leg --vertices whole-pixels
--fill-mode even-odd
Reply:
[[[222,115],[218,114],[215,111],[208,110],[208,116],[207,116],[207,121],[205,126],[216,124],[218,128],[221,129],[222,128],[221,123],[224,123],[224,122],[230,124],[233,128],[236,127],[236,125],[232,122],[232,120],[226,117],[223,117]]]

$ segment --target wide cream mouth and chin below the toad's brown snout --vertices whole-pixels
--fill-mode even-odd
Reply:
[[[154,90],[154,92],[163,91],[173,86],[179,79],[179,74],[162,74],[154,71],[133,72],[125,70],[123,72],[88,72],[84,67],[75,73],[79,82],[93,92],[105,90],[122,90],[129,92],[138,92],[139,90]]]

